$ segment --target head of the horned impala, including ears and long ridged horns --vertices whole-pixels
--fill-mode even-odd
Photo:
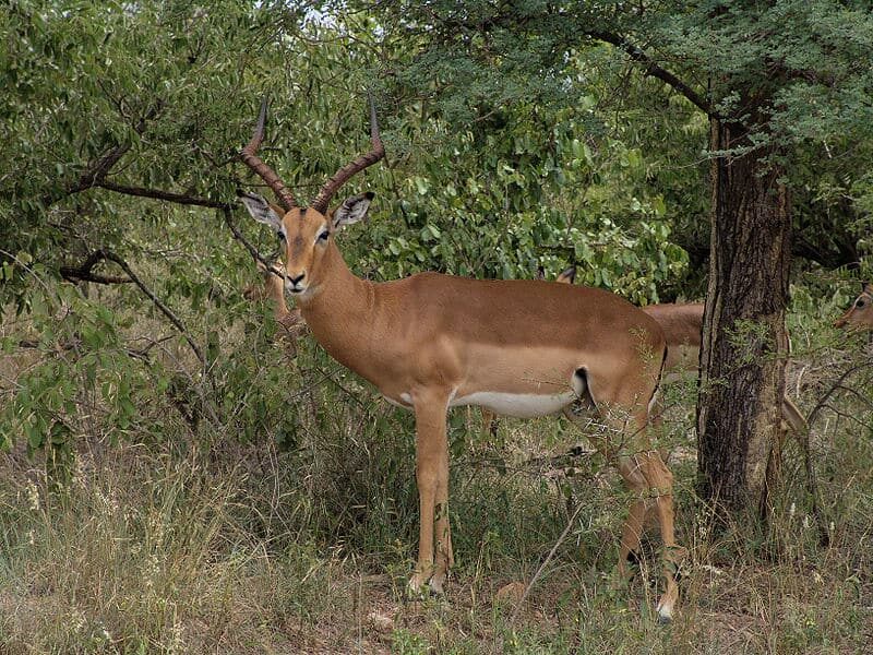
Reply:
[[[261,105],[261,114],[254,135],[240,154],[246,164],[273,189],[279,204],[272,204],[256,193],[240,192],[239,196],[252,217],[268,225],[285,243],[285,288],[292,295],[301,296],[319,284],[325,255],[336,246],[333,237],[345,225],[357,223],[370,207],[373,193],[360,193],[347,198],[333,210],[327,209],[334,193],[356,172],[375,164],[385,155],[379,135],[375,107],[370,99],[370,136],[372,150],[359,156],[336,171],[322,187],[315,200],[308,207],[298,206],[291,192],[278,176],[264,164],[255,152],[264,138],[266,122],[266,102]]]

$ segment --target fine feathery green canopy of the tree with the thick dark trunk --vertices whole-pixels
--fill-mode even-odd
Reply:
[[[470,0],[380,10],[387,35],[411,43],[396,79],[458,128],[487,124],[531,97],[589,126],[593,88],[598,109],[620,108],[612,128],[632,119],[655,169],[647,187],[667,201],[695,269],[708,257],[708,115],[741,122],[750,133],[743,148],[785,164],[800,202],[796,253],[836,267],[869,252],[854,248],[870,204],[873,21],[863,3],[667,2],[638,11]],[[695,121],[690,110],[703,114]],[[621,140],[637,144],[626,133]]]

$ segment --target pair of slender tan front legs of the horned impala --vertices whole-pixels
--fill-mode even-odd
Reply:
[[[416,483],[418,484],[418,564],[409,581],[412,592],[424,584],[442,593],[454,563],[449,525],[449,443],[446,439],[447,395],[415,400]]]

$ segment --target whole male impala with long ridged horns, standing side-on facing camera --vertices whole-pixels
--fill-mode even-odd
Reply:
[[[374,107],[372,150],[337,170],[310,206],[298,206],[255,155],[265,115],[263,105],[241,158],[283,206],[253,193],[240,193],[241,201],[255,221],[284,239],[285,287],[315,340],[385,398],[416,415],[420,525],[410,588],[429,584],[441,592],[453,563],[446,413],[459,405],[517,417],[563,409],[578,420],[574,403],[591,402],[609,426],[596,443],[618,464],[635,497],[622,533],[620,570],[639,545],[648,509],[658,516],[667,558],[675,558],[681,549],[673,535],[672,475],[646,437],[665,353],[658,323],[600,289],[435,273],[381,284],[356,277],[334,237],[366,216],[373,194],[352,195],[333,210],[327,205],[343,183],[384,156]],[[607,439],[612,434],[622,438]],[[673,570],[673,562],[665,563],[662,620],[669,620],[677,600]]]

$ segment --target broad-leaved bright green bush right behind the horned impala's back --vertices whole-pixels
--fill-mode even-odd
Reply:
[[[646,301],[682,272],[686,258],[669,241],[663,198],[613,193],[645,180],[638,150],[617,139],[594,150],[573,120],[541,106],[493,120],[495,132],[452,132],[431,119],[409,134],[432,145],[419,155],[420,172],[397,186],[409,231],[371,230],[376,243],[387,240],[388,263],[371,264],[381,276],[529,277],[545,265],[553,277],[574,263],[586,283]]]

